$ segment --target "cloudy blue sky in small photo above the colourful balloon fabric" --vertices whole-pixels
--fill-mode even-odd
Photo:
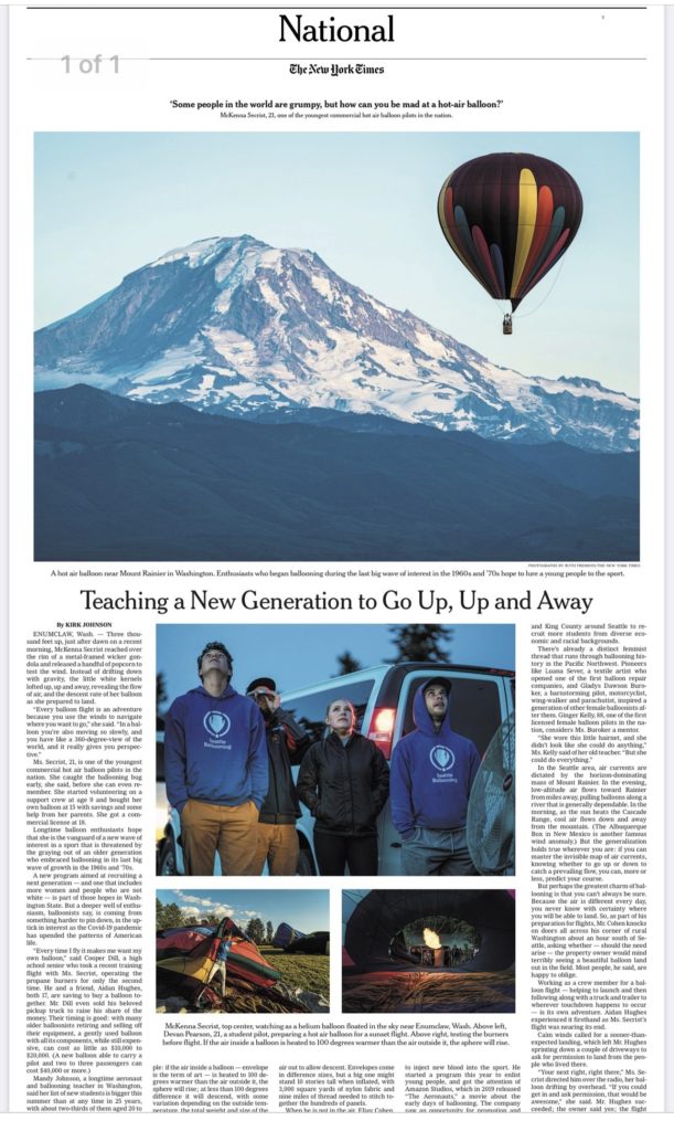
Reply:
[[[218,888],[158,888],[161,904],[177,904],[185,914],[203,918],[207,915],[226,915],[245,931],[255,917],[274,929],[289,923],[304,934],[330,930],[330,896],[327,891],[266,890],[220,891]]]

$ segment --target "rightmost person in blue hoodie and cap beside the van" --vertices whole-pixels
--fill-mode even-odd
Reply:
[[[414,696],[415,731],[391,760],[391,815],[402,839],[403,875],[476,875],[466,840],[478,748],[449,725],[452,683],[432,676]]]

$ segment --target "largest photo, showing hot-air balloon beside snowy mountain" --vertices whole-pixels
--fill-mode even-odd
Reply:
[[[36,560],[638,560],[638,223],[636,133],[36,135]]]

